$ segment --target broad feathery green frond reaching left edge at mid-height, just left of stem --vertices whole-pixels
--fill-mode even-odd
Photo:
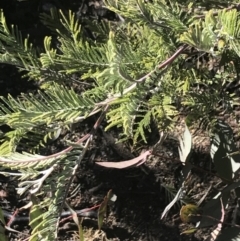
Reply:
[[[12,128],[31,129],[53,122],[71,124],[83,119],[94,107],[91,99],[56,84],[44,92],[39,91],[38,95],[22,94],[17,100],[9,95],[1,99],[5,105],[1,104],[0,123]]]

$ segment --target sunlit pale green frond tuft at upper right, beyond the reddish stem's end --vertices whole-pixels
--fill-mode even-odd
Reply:
[[[220,54],[229,44],[239,53],[239,13],[236,9],[218,10],[217,13],[214,15],[213,10],[210,10],[205,13],[204,21],[195,20],[190,29],[181,35],[181,41],[212,54]],[[215,47],[218,47],[217,51]]]

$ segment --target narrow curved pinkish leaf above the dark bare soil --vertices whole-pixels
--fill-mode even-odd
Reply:
[[[123,169],[123,168],[129,168],[134,166],[140,166],[143,164],[147,157],[151,155],[151,151],[146,151],[142,154],[140,154],[138,157],[133,158],[128,161],[121,161],[121,162],[96,162],[99,166],[108,167],[108,168],[117,168],[117,169]]]

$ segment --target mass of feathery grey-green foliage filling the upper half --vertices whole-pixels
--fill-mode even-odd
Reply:
[[[236,10],[219,10],[218,14],[211,10],[205,18],[195,19],[193,4],[183,7],[164,1],[151,4],[106,1],[106,5],[121,14],[124,21],[102,23],[99,29],[96,24],[88,23],[96,38],[105,33],[105,38],[99,41],[83,34],[71,12],[68,16],[56,10],[52,10],[51,15],[43,14],[42,21],[58,35],[57,44],[46,36],[44,52],[33,48],[29,41],[22,40],[16,27],[9,30],[1,14],[1,61],[27,70],[30,78],[48,89],[39,92],[37,97],[23,94],[18,104],[11,97],[5,99],[7,105],[15,107],[11,114],[14,119],[9,118],[9,112],[6,113],[4,107],[2,123],[14,129],[27,130],[40,124],[49,127],[50,122],[54,125],[56,122],[71,124],[90,114],[94,108],[101,111],[102,105],[98,103],[113,98],[113,101],[107,101],[111,105],[109,127],[122,127],[127,137],[137,141],[139,137],[146,140],[144,130],[152,119],[156,119],[159,127],[164,127],[162,120],[177,115],[176,108],[179,106],[176,103],[193,109],[194,106],[202,106],[201,114],[216,108],[220,99],[218,93],[212,93],[211,88],[207,90],[209,93],[196,90],[198,86],[208,85],[210,78],[215,84],[212,89],[219,89],[217,86],[221,87],[221,80],[207,73],[206,76],[199,75],[194,69],[181,72],[179,66],[183,64],[184,56],[162,70],[158,70],[158,65],[170,57],[169,53],[174,53],[181,43],[213,56],[224,55],[229,49],[233,50],[232,54],[238,54],[239,20]],[[215,50],[220,40],[224,41],[224,46]],[[90,85],[90,89],[80,96],[74,90],[59,85],[71,83],[73,73],[80,74],[81,79]],[[145,77],[148,73],[151,74]],[[47,84],[49,82],[55,84]],[[56,96],[61,92],[60,96]],[[32,109],[31,113],[26,106]],[[25,122],[29,116],[31,118]],[[21,124],[16,123],[19,118]]]

